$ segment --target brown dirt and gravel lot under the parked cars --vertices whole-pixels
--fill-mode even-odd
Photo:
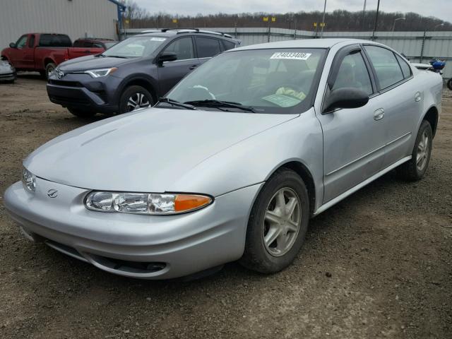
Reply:
[[[0,338],[452,338],[448,90],[443,107],[427,177],[391,172],[315,218],[277,275],[121,278],[28,242],[0,203]],[[88,122],[36,76],[0,85],[0,194],[28,153]]]

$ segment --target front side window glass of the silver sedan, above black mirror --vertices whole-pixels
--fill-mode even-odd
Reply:
[[[369,72],[361,53],[348,54],[340,63],[332,90],[345,87],[360,88],[369,95],[373,93]]]

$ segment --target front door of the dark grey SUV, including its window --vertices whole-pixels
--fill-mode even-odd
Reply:
[[[177,54],[177,60],[165,61],[162,65],[158,66],[160,95],[165,95],[186,74],[196,69],[199,61],[195,57],[192,37],[179,37],[176,40],[172,40],[162,52],[173,52]]]

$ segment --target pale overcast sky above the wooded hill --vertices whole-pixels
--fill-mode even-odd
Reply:
[[[196,16],[196,14],[298,11],[323,11],[323,0],[135,0],[150,13],[166,12]],[[381,0],[385,12],[415,12],[452,22],[452,0]],[[376,10],[377,0],[367,0],[366,8]],[[364,0],[326,0],[326,11],[345,9],[362,11]]]

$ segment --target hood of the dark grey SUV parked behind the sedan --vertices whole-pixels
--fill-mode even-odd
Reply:
[[[86,71],[87,69],[107,69],[109,67],[117,67],[122,64],[128,64],[135,59],[121,59],[112,57],[95,57],[88,55],[64,61],[59,64],[58,68],[64,72]]]

